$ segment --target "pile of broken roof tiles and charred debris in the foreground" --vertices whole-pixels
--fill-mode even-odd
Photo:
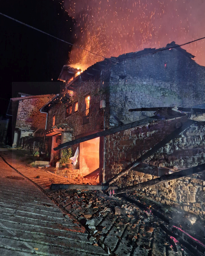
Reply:
[[[140,207],[102,191],[53,190],[48,194],[89,231],[89,241],[109,255],[189,255],[183,245],[173,242],[163,231],[161,226],[168,227],[168,223],[153,215],[147,202]],[[166,210],[160,211],[163,215]]]

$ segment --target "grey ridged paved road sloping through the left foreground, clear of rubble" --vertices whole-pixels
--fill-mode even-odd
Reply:
[[[0,255],[107,255],[31,181],[0,158]]]

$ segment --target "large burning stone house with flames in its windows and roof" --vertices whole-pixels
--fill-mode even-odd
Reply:
[[[55,154],[60,157],[60,148],[72,145],[75,152],[79,147],[79,173],[97,170],[100,182],[109,181],[189,121],[116,185],[131,186],[204,163],[205,67],[192,58],[173,42],[105,59],[80,75],[63,67],[60,94],[41,108],[48,113],[45,134],[53,138],[52,161]],[[138,193],[205,215],[202,172]]]

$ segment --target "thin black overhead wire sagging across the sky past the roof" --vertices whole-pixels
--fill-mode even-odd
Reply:
[[[67,42],[67,41],[65,41],[65,40],[63,40],[63,39],[60,39],[60,38],[55,37],[55,36],[53,36],[53,35],[51,35],[51,34],[48,34],[47,32],[44,32],[44,31],[42,31],[42,30],[40,30],[40,29],[38,29],[38,28],[36,28],[36,27],[32,27],[32,26],[30,26],[30,25],[28,25],[28,24],[26,24],[26,23],[24,23],[24,22],[22,22],[22,21],[16,20],[16,19],[12,18],[11,16],[5,15],[4,13],[1,13],[1,12],[0,12],[0,15],[5,16],[5,17],[7,17],[7,18],[9,18],[9,19],[11,19],[11,20],[13,20],[13,21],[16,21],[16,22],[22,24],[22,25],[25,25],[26,27],[30,27],[30,28],[32,28],[32,29],[34,29],[34,30],[37,30],[38,32],[42,32],[43,34],[45,34],[45,35],[47,35],[47,36],[50,36],[50,37],[53,37],[53,38],[55,38],[55,39],[57,39],[57,40],[60,40],[60,41],[62,41],[63,43],[67,43],[67,44],[72,45],[72,46],[74,46],[74,47],[76,47],[76,48],[79,48],[79,49],[81,49],[81,50],[84,50],[84,51],[86,51],[86,52],[89,52],[89,53],[95,54],[95,55],[97,55],[97,56],[100,56],[100,57],[102,57],[102,58],[108,59],[108,58],[106,58],[106,57],[103,56],[103,55],[100,55],[100,54],[98,54],[98,53],[93,53],[93,52],[91,52],[91,51],[89,51],[89,50],[87,50],[87,49],[85,49],[85,48],[82,48],[82,47],[77,46],[76,44],[69,43],[69,42]],[[190,41],[190,42],[188,42],[188,43],[183,43],[183,44],[176,45],[176,46],[173,46],[173,47],[169,47],[169,48],[164,48],[164,49],[156,50],[155,52],[143,54],[142,56],[134,57],[134,58],[130,58],[130,59],[139,59],[139,58],[141,58],[141,57],[143,57],[143,56],[147,56],[147,55],[150,55],[150,54],[162,52],[162,51],[169,50],[169,49],[173,49],[173,48],[178,48],[178,47],[187,45],[187,44],[189,44],[189,43],[194,43],[194,42],[199,41],[199,40],[202,40],[202,39],[205,39],[205,37],[201,37],[201,38],[195,39],[195,40],[193,40],[193,41]],[[117,63],[114,59],[109,59],[109,60],[110,60],[110,61],[113,61],[113,62],[115,62],[115,63]]]

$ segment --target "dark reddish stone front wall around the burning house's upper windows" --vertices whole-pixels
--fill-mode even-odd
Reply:
[[[103,99],[100,91],[100,77],[86,81],[76,91],[74,91],[73,102],[78,101],[78,112],[73,112],[72,115],[65,117],[66,104],[59,103],[51,108],[48,113],[47,128],[52,127],[52,117],[55,114],[55,122],[67,123],[74,129],[72,136],[94,132],[103,129],[104,127],[104,110],[100,109],[100,100]],[[103,85],[102,85],[103,86]],[[84,114],[84,97],[90,95],[90,116],[89,123],[83,124]]]

